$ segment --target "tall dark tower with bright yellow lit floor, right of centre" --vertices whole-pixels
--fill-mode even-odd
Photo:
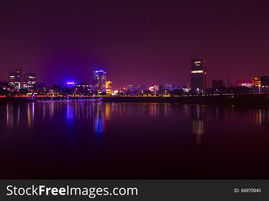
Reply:
[[[206,89],[207,75],[205,58],[191,60],[191,89]]]

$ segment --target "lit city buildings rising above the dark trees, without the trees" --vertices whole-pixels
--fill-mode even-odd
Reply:
[[[179,88],[191,88],[192,90],[198,90],[198,89],[208,89],[208,88],[216,88],[220,86],[225,87],[235,87],[235,86],[246,86],[246,87],[252,87],[252,86],[262,86],[262,87],[268,87],[269,86],[269,80],[268,76],[261,76],[261,77],[251,77],[251,80],[237,80],[236,83],[232,83],[229,78],[229,72],[227,73],[227,78],[224,80],[212,80],[212,85],[208,84],[207,80],[207,70],[206,70],[206,64],[205,64],[205,58],[201,59],[192,59],[191,60],[191,82],[186,83],[185,85],[175,84],[175,83],[158,83],[158,84],[149,84],[147,85],[148,89],[150,91],[159,90],[159,85],[162,85],[164,89],[168,89],[170,91],[173,91],[174,89]],[[15,75],[15,76],[14,76]],[[64,81],[61,83],[55,83],[53,85],[59,85],[60,87],[72,87],[72,86],[87,86],[91,87],[91,90],[93,91],[99,91],[99,92],[107,92],[108,94],[112,93],[113,89],[121,89],[120,87],[123,87],[125,90],[133,89],[134,87],[142,87],[145,88],[145,85],[134,85],[134,84],[125,84],[123,86],[118,86],[112,88],[112,81],[107,80],[107,72],[105,70],[95,70],[93,72],[92,81],[88,82],[82,82],[82,81]],[[261,80],[262,83],[261,83]],[[30,72],[29,70],[25,69],[24,67],[19,69],[9,69],[8,70],[8,81],[0,80],[1,82],[10,83],[10,86],[14,89],[20,89],[20,88],[32,88],[32,87],[48,87],[46,83],[43,82],[36,82],[35,73]],[[80,84],[80,85],[79,85]],[[51,86],[53,86],[51,85]],[[124,87],[125,86],[125,87]],[[127,86],[127,87],[126,87]]]

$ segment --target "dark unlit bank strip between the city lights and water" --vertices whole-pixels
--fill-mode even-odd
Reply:
[[[101,96],[96,96],[100,98]],[[0,97],[0,102],[27,103],[35,100],[47,99],[47,97]],[[83,97],[87,99],[89,97]],[[63,99],[54,97],[54,100]],[[74,98],[72,98],[74,99]],[[77,98],[78,99],[78,98]],[[157,97],[157,96],[104,96],[102,102],[130,102],[130,103],[180,103],[191,105],[219,106],[247,109],[269,110],[269,94],[229,94],[229,95],[198,95],[198,96],[176,96],[176,97]]]

